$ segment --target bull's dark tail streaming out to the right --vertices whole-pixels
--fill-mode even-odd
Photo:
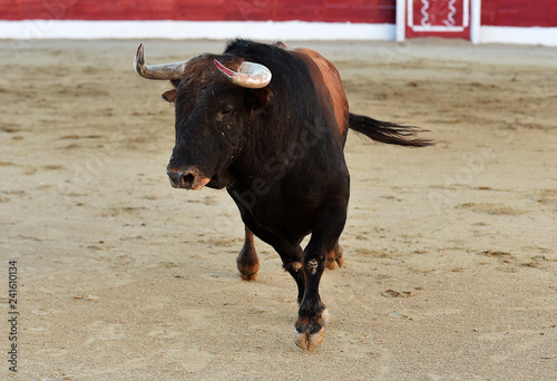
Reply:
[[[416,137],[417,134],[426,131],[414,126],[400,126],[390,121],[377,120],[363,115],[350,113],[349,127],[369,138],[399,146],[424,147],[432,146],[433,140]]]

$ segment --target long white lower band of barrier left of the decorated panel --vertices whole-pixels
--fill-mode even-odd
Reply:
[[[304,21],[0,21],[0,39],[394,40],[394,25]]]

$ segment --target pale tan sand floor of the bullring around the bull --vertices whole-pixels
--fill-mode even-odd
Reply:
[[[0,379],[18,267],[21,380],[556,380],[557,49],[290,42],[339,68],[351,110],[419,125],[349,135],[323,345],[294,344],[295,284],[224,190],[173,189],[167,82],[140,41],[0,41]],[[289,41],[286,41],[289,42]],[[223,41],[146,41],[146,60]]]

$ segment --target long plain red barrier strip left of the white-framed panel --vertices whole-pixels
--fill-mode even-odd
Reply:
[[[394,23],[395,0],[0,0],[0,19]]]

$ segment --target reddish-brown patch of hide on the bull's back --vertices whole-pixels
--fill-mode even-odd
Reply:
[[[325,107],[323,110],[325,115],[330,113],[329,105],[333,106],[332,111],[342,138],[341,143],[344,145],[349,129],[349,105],[339,71],[326,58],[314,50],[297,48],[295,50],[287,49],[287,51],[307,65],[321,105]]]

